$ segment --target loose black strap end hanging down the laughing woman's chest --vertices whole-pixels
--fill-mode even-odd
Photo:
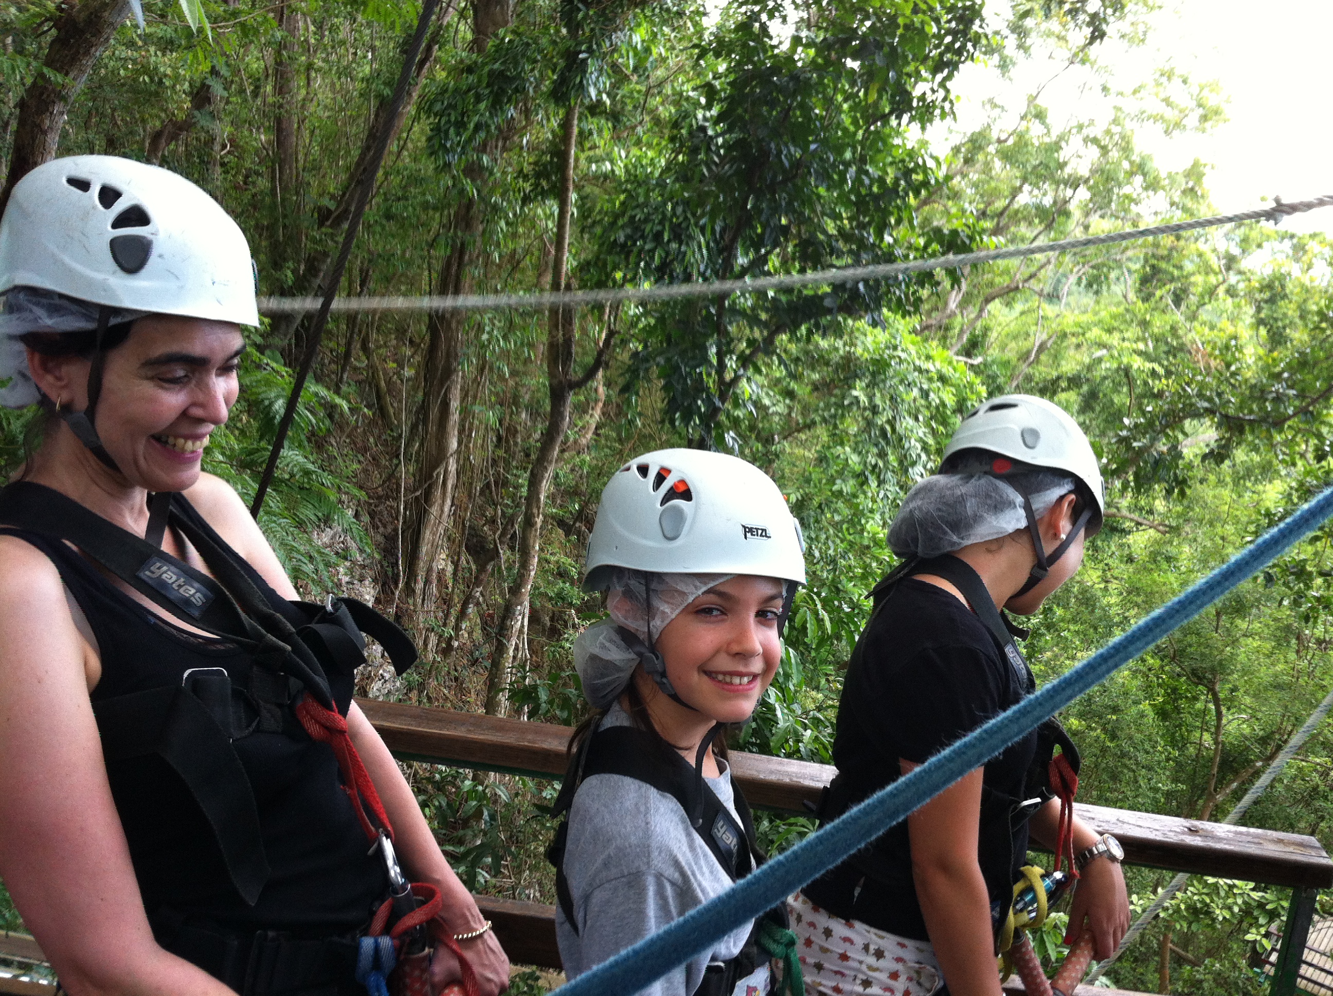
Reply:
[[[232,884],[255,905],[271,869],[255,792],[231,731],[180,685],[93,703],[93,715],[108,761],[156,753],[180,775],[213,831]]]

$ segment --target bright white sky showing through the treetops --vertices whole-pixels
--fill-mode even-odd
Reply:
[[[1004,0],[986,0],[1002,15]],[[1304,200],[1333,193],[1333,3],[1330,0],[1164,0],[1149,19],[1140,48],[1108,43],[1100,53],[1113,89],[1130,91],[1153,71],[1174,65],[1194,80],[1217,80],[1229,120],[1208,135],[1166,139],[1154,129],[1137,135],[1158,165],[1178,169],[1196,157],[1210,165],[1209,191],[1222,213],[1260,207],[1262,197]],[[958,124],[980,116],[980,101],[997,96],[1021,107],[1022,96],[1057,65],[1034,60],[1012,83],[988,67],[968,67],[954,92]],[[1052,123],[1104,107],[1088,75],[1066,73],[1044,92]],[[1333,207],[1284,221],[1290,231],[1333,233]]]

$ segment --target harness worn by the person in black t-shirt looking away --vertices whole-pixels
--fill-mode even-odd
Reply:
[[[990,633],[990,639],[1004,660],[1013,668],[1020,685],[1024,688],[1024,695],[1030,695],[1036,691],[1036,680],[1032,676],[1032,669],[1028,667],[1028,661],[1017,645],[1017,640],[1026,639],[1029,631],[1016,625],[1006,613],[996,608],[994,599],[990,596],[980,575],[977,575],[970,564],[952,553],[929,560],[921,557],[909,559],[894,568],[870,591],[870,596],[874,599],[874,608],[870,612],[870,620],[866,623],[861,639],[857,640],[856,648],[852,651],[853,663],[862,657],[865,652],[865,633],[869,632],[870,624],[884,609],[884,605],[888,604],[897,585],[914,575],[942,577],[957,588],[964,599],[966,599],[973,613]],[[985,836],[988,828],[992,832],[1012,836],[1014,831],[1025,827],[1032,815],[1050,799],[1060,799],[1056,871],[1060,871],[1064,860],[1068,860],[1069,872],[1077,877],[1078,872],[1074,868],[1073,860],[1073,800],[1078,791],[1078,748],[1074,747],[1073,740],[1054,717],[1042,723],[1037,728],[1036,736],[1036,752],[1024,776],[1021,796],[1008,796],[989,785],[982,785],[982,840],[980,841],[980,847],[982,852],[986,852],[988,841]],[[1060,748],[1058,753],[1056,748]],[[864,796],[865,792],[853,787],[849,779],[840,772],[825,789],[818,807],[820,820],[837,819]],[[862,848],[849,859],[865,879],[884,883],[892,881],[896,877],[886,872],[886,861],[889,859],[882,852],[884,845],[884,840],[881,839]],[[1000,868],[1000,863],[1004,863],[1006,867]],[[988,868],[986,865],[990,864],[996,867]],[[982,861],[982,871],[986,872],[988,885],[994,879],[1002,892],[1008,893],[1012,869],[1008,867],[1005,856],[994,852],[990,855],[990,860]],[[1006,903],[992,905],[992,925],[994,928],[996,949],[998,953],[998,951],[1008,948],[1009,940],[1013,936],[1013,916]]]

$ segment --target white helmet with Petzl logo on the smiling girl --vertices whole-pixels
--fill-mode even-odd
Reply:
[[[804,584],[804,549],[801,524],[754,464],[702,449],[659,449],[627,463],[601,492],[584,589],[605,588],[616,567]]]

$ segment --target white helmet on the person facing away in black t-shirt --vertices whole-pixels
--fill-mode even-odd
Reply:
[[[1096,503],[1089,533],[1106,511],[1101,469],[1088,436],[1057,404],[1033,395],[1001,395],[972,409],[944,448],[944,463],[964,449],[985,449],[1002,457],[1064,471],[1086,485]]]

